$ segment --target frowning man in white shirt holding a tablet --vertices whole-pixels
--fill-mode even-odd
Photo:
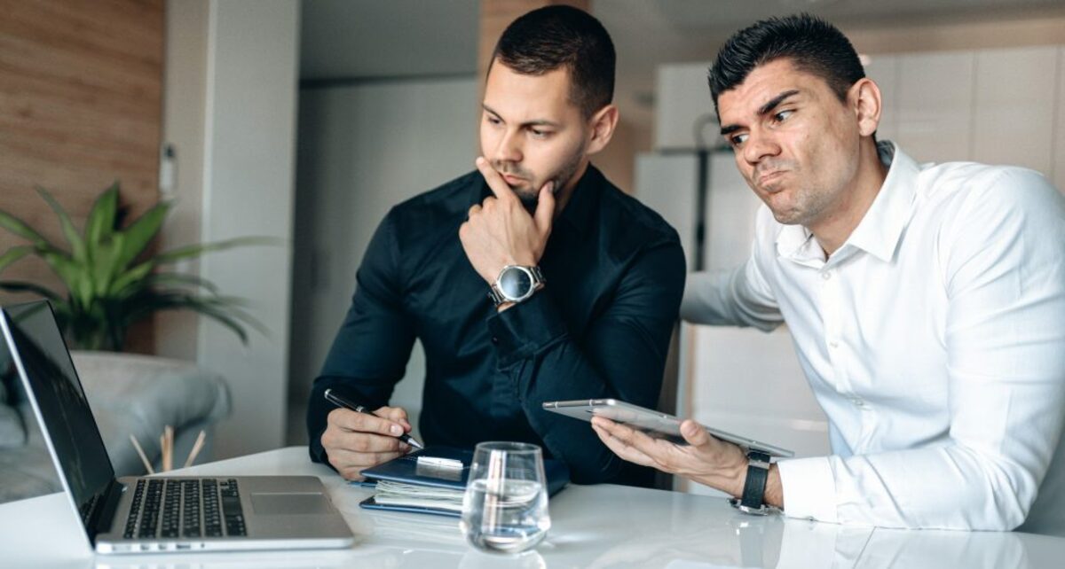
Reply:
[[[682,316],[786,322],[833,454],[768,466],[691,420],[687,446],[595,418],[600,437],[749,509],[1065,535],[1062,196],[1031,170],[878,144],[879,88],[809,16],[738,32],[709,82],[765,205],[750,260],[690,275]]]

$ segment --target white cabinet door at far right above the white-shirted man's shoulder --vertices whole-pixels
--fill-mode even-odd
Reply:
[[[1044,46],[977,52],[973,161],[1023,166],[1050,175],[1058,51]]]

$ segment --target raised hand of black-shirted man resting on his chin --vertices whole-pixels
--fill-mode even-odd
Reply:
[[[459,228],[459,240],[474,270],[491,284],[507,265],[540,263],[555,214],[554,182],[540,188],[536,213],[529,215],[487,160],[478,157],[477,169],[493,195],[470,207],[469,219]]]

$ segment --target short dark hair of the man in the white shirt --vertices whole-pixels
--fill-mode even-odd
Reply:
[[[780,58],[823,79],[840,101],[865,77],[854,46],[835,26],[805,13],[769,18],[736,32],[718,52],[708,78],[715,108],[755,67]]]

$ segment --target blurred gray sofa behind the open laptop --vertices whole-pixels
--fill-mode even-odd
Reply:
[[[71,357],[117,475],[145,473],[130,434],[159,468],[159,436],[167,424],[175,429],[176,467],[200,430],[207,431],[208,444],[196,463],[210,458],[212,425],[230,412],[229,388],[220,375],[145,355],[76,351]],[[0,384],[0,502],[62,489],[21,385]]]

